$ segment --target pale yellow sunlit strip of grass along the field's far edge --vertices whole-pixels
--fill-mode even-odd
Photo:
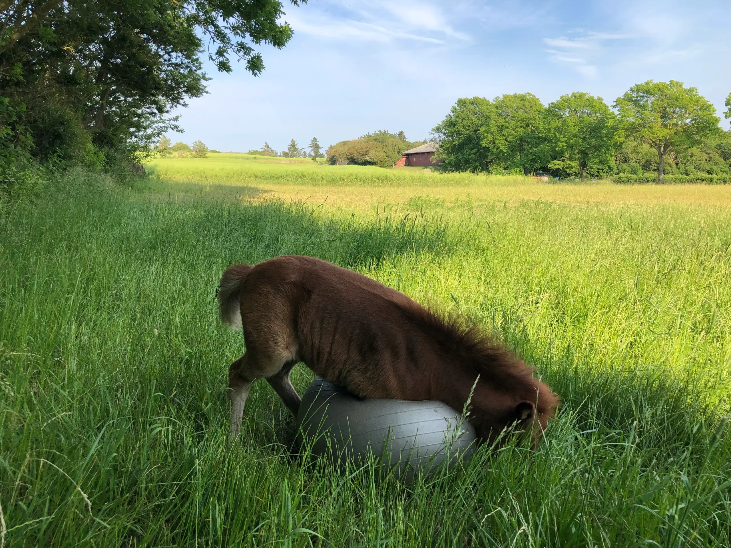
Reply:
[[[404,205],[414,196],[444,200],[445,206],[515,205],[522,200],[570,204],[702,204],[731,206],[731,185],[617,185],[548,182],[523,176],[425,172],[414,169],[319,165],[308,159],[267,159],[216,154],[209,159],[154,159],[148,164],[154,181],[168,192],[236,194],[236,187],[313,205],[345,206],[365,212],[376,205]],[[287,164],[285,161],[298,162]],[[239,192],[239,194],[241,194]]]

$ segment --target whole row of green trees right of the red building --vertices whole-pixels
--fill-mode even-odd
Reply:
[[[731,94],[726,99],[731,118]],[[433,128],[447,170],[561,178],[651,172],[730,175],[731,132],[697,88],[648,80],[613,105],[583,92],[544,106],[533,94],[458,99]]]

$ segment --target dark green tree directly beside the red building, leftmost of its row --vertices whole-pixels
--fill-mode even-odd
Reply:
[[[487,171],[491,158],[482,146],[482,127],[494,110],[493,104],[483,97],[457,99],[447,117],[432,129],[439,140],[435,159],[444,160],[444,168],[450,171]]]

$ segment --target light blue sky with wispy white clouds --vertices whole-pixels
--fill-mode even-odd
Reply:
[[[421,140],[459,97],[572,91],[611,104],[635,83],[681,80],[716,105],[731,92],[731,1],[334,1],[285,5],[265,72],[207,67],[184,134],[221,151],[322,145],[376,129]],[[722,121],[724,129],[729,127]]]

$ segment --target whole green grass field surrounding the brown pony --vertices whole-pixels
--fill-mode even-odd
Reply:
[[[5,546],[731,545],[731,187],[211,156],[0,202]],[[266,383],[231,445],[216,282],[295,253],[493,330],[561,395],[539,449],[341,470]]]

